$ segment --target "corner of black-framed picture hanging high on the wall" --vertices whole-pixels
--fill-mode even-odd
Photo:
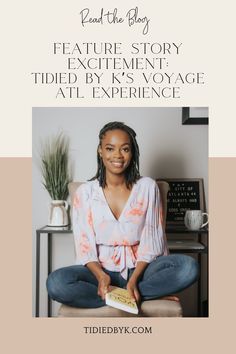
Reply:
[[[208,107],[183,107],[182,124],[208,124]]]

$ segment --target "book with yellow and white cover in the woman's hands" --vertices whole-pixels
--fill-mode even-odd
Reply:
[[[128,290],[111,287],[111,291],[106,294],[106,304],[117,309],[138,314],[138,306],[135,300],[131,299]]]

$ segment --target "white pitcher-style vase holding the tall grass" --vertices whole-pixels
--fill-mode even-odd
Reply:
[[[68,203],[65,200],[52,200],[48,226],[68,226]]]

